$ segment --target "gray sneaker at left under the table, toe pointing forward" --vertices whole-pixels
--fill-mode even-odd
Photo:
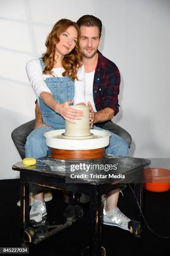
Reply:
[[[45,215],[47,215],[45,202],[35,199],[30,210],[30,220],[40,222]]]

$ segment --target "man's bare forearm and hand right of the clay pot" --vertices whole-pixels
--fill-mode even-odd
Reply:
[[[90,101],[87,103],[90,110],[90,128],[95,123],[103,123],[113,118],[115,111],[112,108],[104,108],[98,112],[94,112]]]

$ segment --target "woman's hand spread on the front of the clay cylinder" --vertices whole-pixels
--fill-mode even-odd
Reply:
[[[70,108],[69,104],[72,102],[73,100],[69,100],[63,104],[57,104],[55,112],[62,115],[62,117],[70,123],[75,123],[72,119],[80,120],[80,116],[83,116],[83,111]]]

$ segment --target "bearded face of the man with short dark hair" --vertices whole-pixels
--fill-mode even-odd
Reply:
[[[92,58],[100,44],[99,29],[97,27],[80,27],[80,53],[86,58]]]

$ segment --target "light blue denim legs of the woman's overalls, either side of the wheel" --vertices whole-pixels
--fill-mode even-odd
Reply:
[[[96,127],[94,125],[93,129],[105,131],[102,128]],[[55,128],[49,128],[41,126],[33,130],[27,137],[25,144],[25,157],[39,158],[42,156],[47,156],[50,154],[49,147],[45,143],[44,133],[47,131],[56,130]],[[105,154],[113,154],[117,156],[128,156],[129,147],[128,143],[116,134],[107,131],[111,134],[110,144],[105,148]]]

